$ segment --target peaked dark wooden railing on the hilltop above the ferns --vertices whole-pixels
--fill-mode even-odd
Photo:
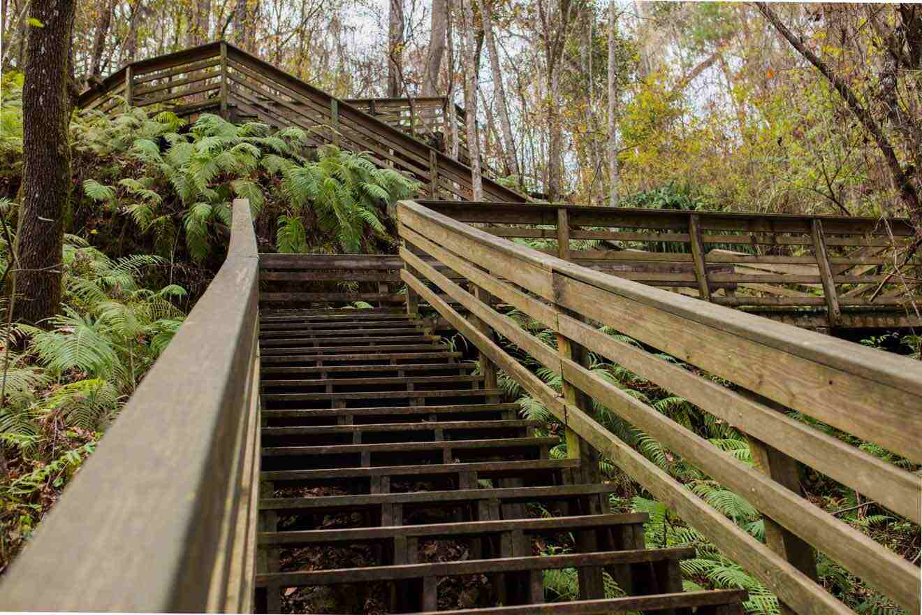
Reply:
[[[472,195],[470,169],[462,162],[224,41],[126,65],[81,95],[77,106],[109,112],[123,100],[181,114],[231,117],[232,111],[278,127],[300,126],[317,145],[365,151],[381,166],[408,172],[433,197]],[[495,201],[524,199],[486,177],[483,195]]]

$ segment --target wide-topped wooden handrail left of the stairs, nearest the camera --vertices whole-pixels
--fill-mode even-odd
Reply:
[[[2,610],[252,610],[259,264],[227,260],[0,584]]]

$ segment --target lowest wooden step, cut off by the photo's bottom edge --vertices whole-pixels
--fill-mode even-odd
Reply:
[[[573,600],[484,609],[427,610],[419,615],[609,615],[629,611],[698,609],[696,615],[742,615],[745,589],[704,589],[691,592]]]

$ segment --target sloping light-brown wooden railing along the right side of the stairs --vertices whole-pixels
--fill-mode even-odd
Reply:
[[[585,450],[581,442],[591,444],[795,612],[851,612],[817,583],[814,548],[904,609],[918,612],[919,568],[801,497],[796,462],[915,523],[920,522],[922,507],[919,478],[788,412],[803,413],[917,463],[922,461],[922,364],[610,276],[458,221],[486,218],[518,223],[521,208],[496,207],[489,215],[460,205],[443,210],[452,217],[419,203],[398,204],[404,242],[400,254],[406,264],[401,275],[408,285],[408,309],[415,312],[418,302],[428,302],[479,349],[484,370],[501,369],[540,400],[566,425],[571,455]],[[587,232],[573,231],[570,225],[638,226],[650,213],[603,215],[569,207],[528,211],[540,224],[552,225],[561,216],[561,256],[568,255],[567,231],[571,238]],[[612,218],[617,216],[623,218]],[[799,218],[759,222],[730,215],[699,220],[700,225],[691,224],[704,231],[810,231],[810,225]],[[688,213],[674,212],[666,227],[671,235],[668,241],[688,241],[676,235],[687,234],[689,223]],[[836,219],[824,231],[843,235],[870,231],[857,231],[860,224]],[[513,229],[489,231],[521,236],[514,235]],[[426,254],[467,278],[467,289],[417,254]],[[432,289],[451,297],[469,315],[455,310]],[[557,349],[503,315],[493,297],[555,332]],[[598,324],[719,376],[732,387],[623,343],[599,331]],[[494,332],[560,374],[562,396],[497,345]],[[585,362],[587,351],[621,364],[746,433],[756,467],[718,450],[591,371]],[[599,425],[592,417],[590,397],[759,509],[767,545]]]

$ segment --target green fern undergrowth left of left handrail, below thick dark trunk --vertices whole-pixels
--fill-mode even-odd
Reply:
[[[163,259],[67,240],[62,313],[0,328],[0,572],[183,322],[182,287],[144,284]]]

